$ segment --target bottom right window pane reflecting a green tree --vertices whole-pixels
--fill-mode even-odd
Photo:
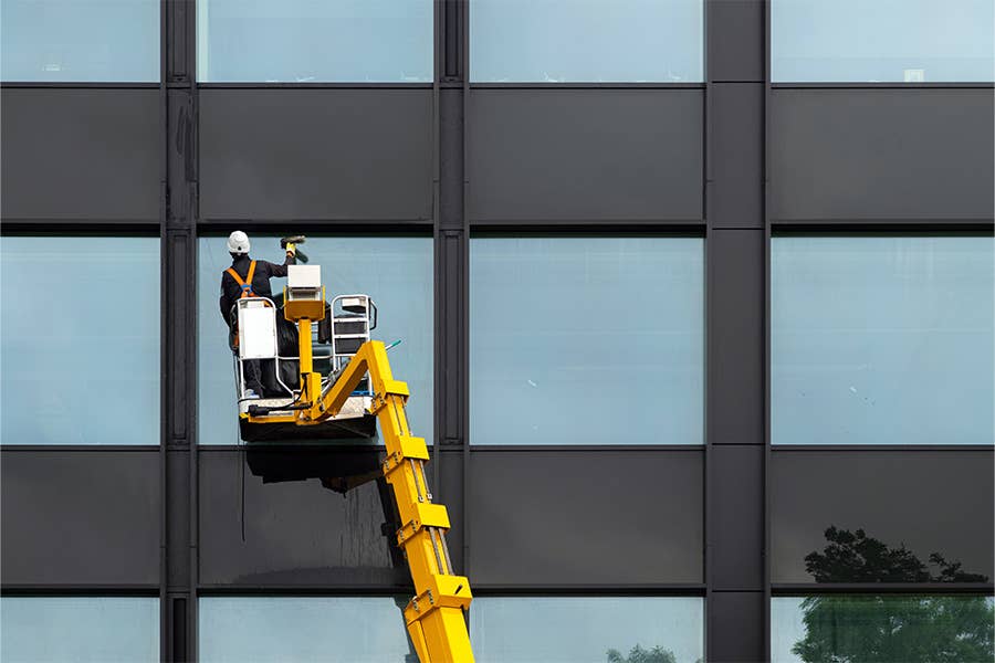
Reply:
[[[991,663],[991,597],[823,594],[771,599],[774,663]]]

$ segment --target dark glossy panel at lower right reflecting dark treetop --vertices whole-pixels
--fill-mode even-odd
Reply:
[[[989,450],[777,449],[769,477],[773,582],[995,576]]]

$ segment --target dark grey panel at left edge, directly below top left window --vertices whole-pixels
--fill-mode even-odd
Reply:
[[[4,220],[159,219],[157,90],[4,88]]]

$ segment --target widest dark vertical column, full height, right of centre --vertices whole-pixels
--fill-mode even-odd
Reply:
[[[705,2],[705,655],[767,660],[763,0]],[[764,411],[762,411],[764,410]]]

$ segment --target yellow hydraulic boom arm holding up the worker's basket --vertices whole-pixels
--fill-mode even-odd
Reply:
[[[384,475],[394,488],[402,523],[397,544],[405,552],[415,581],[415,598],[405,608],[408,633],[421,663],[472,663],[473,651],[463,619],[472,600],[470,581],[452,573],[446,546],[449,515],[444,506],[432,504],[425,476],[428,446],[425,439],[413,436],[408,428],[405,412],[408,386],[394,379],[384,344],[369,340],[359,347],[338,378],[322,391],[321,373],[314,372],[312,364],[311,319],[293,312],[294,306],[289,303],[285,315],[298,325],[300,401],[304,406],[294,411],[294,423],[315,425],[338,414],[369,372],[374,393],[369,411],[376,414],[387,446]],[[308,313],[321,319],[324,312],[312,309]],[[249,420],[262,423],[273,418],[250,413]]]

